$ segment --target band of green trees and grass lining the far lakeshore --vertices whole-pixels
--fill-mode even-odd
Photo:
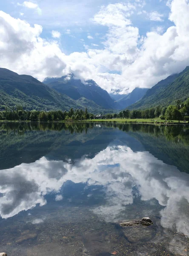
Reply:
[[[98,113],[99,114],[99,113]],[[12,111],[0,111],[0,120],[18,120],[31,122],[54,122],[54,121],[98,121],[98,122],[188,122],[189,121],[189,99],[186,102],[177,100],[175,105],[167,108],[157,106],[146,110],[123,110],[119,113],[108,113],[102,119],[89,113],[87,108],[69,111],[25,111],[22,106],[16,106]]]

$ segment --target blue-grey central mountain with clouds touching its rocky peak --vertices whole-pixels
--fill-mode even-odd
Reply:
[[[117,109],[118,104],[112,99],[106,90],[103,90],[93,80],[81,81],[74,79],[72,74],[60,78],[46,78],[43,83],[57,90],[59,93],[66,94],[76,101],[86,98],[99,105],[101,108]]]

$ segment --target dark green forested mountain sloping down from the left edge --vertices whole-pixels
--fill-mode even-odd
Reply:
[[[92,101],[74,100],[41,83],[32,76],[18,75],[0,68],[0,109],[22,105],[26,110],[69,110],[88,108],[92,113],[109,112]]]

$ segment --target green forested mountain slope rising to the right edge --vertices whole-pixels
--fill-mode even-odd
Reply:
[[[143,98],[129,106],[129,109],[145,109],[158,105],[166,107],[174,104],[177,99],[184,102],[188,97],[189,67],[186,67],[181,73],[168,76],[149,89]]]

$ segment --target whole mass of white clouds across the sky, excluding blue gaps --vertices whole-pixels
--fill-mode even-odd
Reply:
[[[150,29],[143,37],[132,24],[132,15],[141,6],[141,1],[102,6],[92,22],[107,28],[100,42],[103,49],[85,45],[83,52],[70,55],[65,55],[56,42],[41,38],[41,26],[32,27],[0,12],[0,66],[40,80],[74,73],[83,80],[94,79],[109,92],[152,87],[189,64],[189,3],[169,1],[169,20],[173,25],[166,31],[160,27]],[[150,17],[158,21],[163,18],[157,12],[152,12]]]

